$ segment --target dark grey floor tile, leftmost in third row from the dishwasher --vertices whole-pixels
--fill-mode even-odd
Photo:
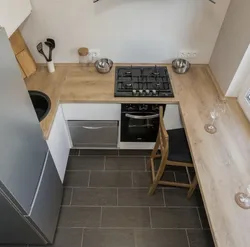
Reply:
[[[64,186],[88,186],[88,171],[67,171],[64,179]]]

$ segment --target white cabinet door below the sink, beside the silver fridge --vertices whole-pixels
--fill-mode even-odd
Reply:
[[[47,144],[62,182],[66,171],[69,150],[71,147],[67,128],[68,127],[63,116],[62,108],[59,106],[49,135],[49,139],[47,140]]]

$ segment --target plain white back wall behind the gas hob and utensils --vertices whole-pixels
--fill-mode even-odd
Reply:
[[[115,62],[169,62],[198,50],[208,63],[230,0],[31,0],[22,33],[37,62],[40,40],[56,39],[55,62],[78,62],[77,49],[100,48]]]

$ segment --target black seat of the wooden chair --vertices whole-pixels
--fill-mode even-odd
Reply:
[[[167,132],[169,136],[168,160],[193,163],[185,130],[181,128],[168,130]]]

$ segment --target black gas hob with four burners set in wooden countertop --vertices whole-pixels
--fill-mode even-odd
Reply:
[[[167,67],[116,67],[115,97],[174,97]]]

